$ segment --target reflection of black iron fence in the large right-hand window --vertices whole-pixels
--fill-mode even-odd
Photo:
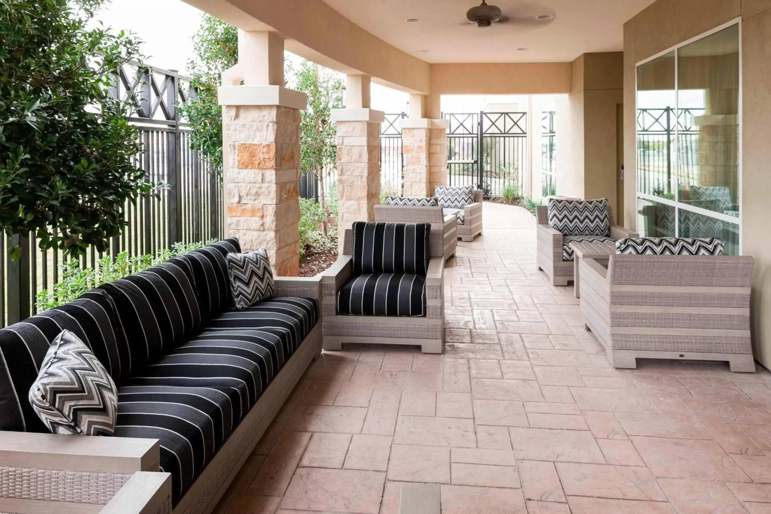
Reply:
[[[697,180],[699,126],[695,117],[704,113],[704,109],[679,109],[676,112],[672,107],[638,109],[637,154],[641,172],[637,175],[638,191],[657,196],[672,195],[675,193],[672,190],[674,173],[678,175],[678,183],[686,188]],[[679,136],[677,142],[675,130]]]

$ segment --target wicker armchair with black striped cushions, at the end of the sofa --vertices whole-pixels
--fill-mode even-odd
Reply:
[[[428,223],[357,221],[322,274],[325,350],[342,343],[419,344],[443,351],[442,241]]]

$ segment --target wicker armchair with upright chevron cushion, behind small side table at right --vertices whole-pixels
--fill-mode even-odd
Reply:
[[[551,222],[550,222],[551,210]],[[597,230],[601,224],[602,213],[606,227]],[[554,220],[572,230],[553,227]],[[613,210],[607,200],[557,200],[550,199],[549,204],[536,207],[537,222],[537,269],[544,270],[551,284],[566,286],[573,280],[574,262],[571,241],[614,241],[622,237],[637,237],[638,234],[618,225],[613,225]],[[594,230],[588,230],[591,227]],[[604,232],[598,234],[598,232]]]

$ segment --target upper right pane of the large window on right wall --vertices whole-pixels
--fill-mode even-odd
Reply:
[[[678,184],[683,203],[738,215],[739,25],[678,49]]]

